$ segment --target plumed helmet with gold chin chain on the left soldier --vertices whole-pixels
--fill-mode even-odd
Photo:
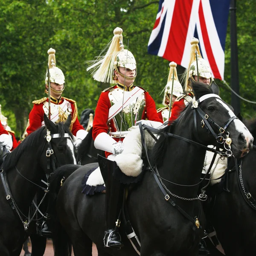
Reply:
[[[53,82],[56,84],[64,84],[64,87],[65,87],[65,76],[61,71],[61,69],[56,67],[55,49],[50,48],[47,51],[47,53],[49,54],[48,65],[49,65],[49,73],[50,73],[50,82]],[[46,74],[45,84],[48,85],[48,74]],[[61,91],[56,91],[52,89],[52,87],[51,87],[51,90],[53,90],[55,93],[62,93],[64,91],[64,87],[63,87],[63,90]],[[47,88],[46,88],[46,92],[48,92]]]

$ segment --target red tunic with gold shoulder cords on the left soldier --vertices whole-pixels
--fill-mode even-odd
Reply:
[[[72,134],[76,136],[77,131],[84,130],[83,126],[80,124],[78,118],[77,118],[77,108],[76,108],[76,102],[65,98],[68,102],[70,102],[71,108],[72,108]],[[43,102],[47,101],[48,99],[44,100]],[[35,101],[38,102],[38,101]],[[44,121],[44,103],[41,102],[39,104],[35,103],[34,107],[32,108],[32,111],[29,113],[29,127],[27,128],[27,133],[31,134],[33,131],[37,130],[39,127],[41,127],[41,123]],[[59,104],[63,103],[64,99],[61,99]],[[55,104],[51,101],[51,104]]]

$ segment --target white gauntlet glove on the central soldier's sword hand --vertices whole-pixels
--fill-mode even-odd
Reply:
[[[96,137],[96,139],[94,140],[94,146],[97,149],[110,152],[113,155],[120,154],[123,151],[122,142],[116,142],[112,137],[110,137],[105,132],[100,133]]]

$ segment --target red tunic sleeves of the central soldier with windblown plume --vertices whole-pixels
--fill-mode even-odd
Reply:
[[[117,86],[113,87],[117,88]],[[95,110],[95,116],[93,119],[93,140],[96,139],[96,137],[102,133],[102,132],[108,132],[111,130],[111,132],[115,132],[116,128],[113,125],[113,119],[110,120],[108,123],[108,111],[111,108],[111,103],[108,97],[109,90],[102,92],[99,96],[99,101],[96,106]],[[145,93],[145,108],[143,111],[142,119],[148,119],[151,121],[157,121],[163,123],[163,119],[160,119],[158,117],[157,111],[156,111],[156,105],[152,97],[149,95],[148,92]],[[113,138],[116,141],[119,141],[119,138]],[[123,138],[121,138],[123,140]],[[106,157],[110,155],[111,153],[105,152]]]

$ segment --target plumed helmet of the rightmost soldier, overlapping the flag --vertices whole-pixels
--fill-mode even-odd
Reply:
[[[189,79],[194,79],[193,76],[199,75],[206,79],[210,79],[210,84],[213,81],[212,71],[207,61],[205,61],[202,58],[198,43],[199,41],[197,38],[192,38],[192,40],[190,41],[191,51],[190,51],[190,59],[189,59],[189,69],[187,69],[185,73],[185,76],[186,76],[185,90],[186,91],[191,90],[191,87],[189,85]],[[197,55],[197,61],[196,61],[196,55]],[[197,65],[198,65],[198,69],[197,69]]]

